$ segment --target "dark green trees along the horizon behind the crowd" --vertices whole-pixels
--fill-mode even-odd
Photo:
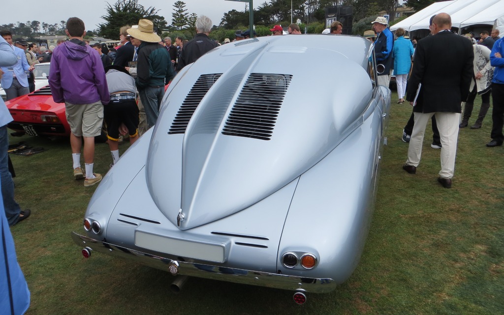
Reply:
[[[404,4],[419,11],[434,2],[447,0],[407,0]],[[292,6],[292,10],[291,10]],[[320,28],[325,28],[325,10],[334,6],[353,7],[354,33],[359,34],[361,29],[369,29],[367,20],[376,17],[380,11],[390,14],[390,21],[394,21],[395,10],[399,6],[398,0],[269,0],[264,2],[258,9],[254,9],[254,24],[260,30],[269,28],[275,24],[288,25],[297,19],[302,21],[304,27],[318,33]],[[212,37],[232,37],[231,30],[246,29],[249,23],[249,10],[231,10],[224,14],[219,25],[213,28]],[[87,31],[88,36],[99,35],[104,38],[117,39],[119,28],[123,25],[135,25],[140,19],[149,19],[158,27],[159,35],[181,36],[192,38],[196,34],[196,19],[198,14],[187,12],[183,1],[173,4],[171,24],[158,14],[159,10],[154,7],[144,7],[138,0],[117,0],[113,5],[107,3],[105,14],[101,18],[105,21],[98,25],[96,30]],[[214,21],[215,22],[215,21]],[[0,29],[11,30],[16,37],[33,38],[40,35],[65,35],[66,21],[55,24],[47,24],[39,21],[17,22],[16,24],[0,25]],[[311,26],[311,27],[309,27]],[[268,32],[268,31],[266,31]],[[222,40],[223,38],[215,38]]]

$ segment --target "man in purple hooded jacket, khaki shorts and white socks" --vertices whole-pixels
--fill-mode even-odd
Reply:
[[[74,178],[85,177],[84,186],[87,187],[102,178],[93,173],[94,137],[101,134],[103,105],[108,104],[110,95],[100,56],[84,42],[84,22],[79,18],[68,19],[66,33],[70,40],[57,46],[52,53],[49,86],[54,102],[65,102],[72,132]],[[80,161],[81,138],[84,138],[85,173]]]

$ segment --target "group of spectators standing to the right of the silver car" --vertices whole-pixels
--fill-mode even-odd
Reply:
[[[430,34],[421,40],[409,40],[402,28],[396,30],[394,40],[387,20],[381,17],[372,22],[372,30],[363,34],[373,42],[376,63],[385,68],[380,69],[377,83],[389,86],[393,63],[397,103],[406,100],[413,106],[402,135],[402,140],[409,143],[403,169],[416,173],[425,127],[431,120],[431,147],[441,149],[438,181],[445,188],[452,187],[459,129],[469,125],[477,95],[481,95],[482,103],[471,129],[481,128],[491,95],[492,130],[486,146],[501,146],[504,142],[504,45],[499,31],[482,31],[476,40],[472,33],[458,36],[451,29],[450,15],[439,13],[430,18]]]

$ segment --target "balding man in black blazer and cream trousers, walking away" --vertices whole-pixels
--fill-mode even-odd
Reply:
[[[410,174],[416,173],[425,127],[430,117],[435,115],[442,144],[441,170],[437,181],[445,188],[451,188],[461,103],[469,93],[474,53],[470,41],[450,31],[450,15],[437,14],[430,28],[433,36],[420,40],[416,46],[408,83],[406,99],[414,106],[415,125],[403,169]],[[413,103],[418,89],[416,103]]]

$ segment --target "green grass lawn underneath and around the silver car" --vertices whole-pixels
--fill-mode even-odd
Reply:
[[[11,230],[31,291],[28,314],[501,314],[504,310],[504,148],[487,148],[491,110],[480,130],[460,131],[453,188],[437,183],[439,150],[427,127],[416,175],[402,170],[411,106],[393,105],[379,193],[361,261],[332,293],[308,294],[191,278],[179,294],[166,272],[95,254],[70,237],[95,187],[73,179],[68,139],[23,136],[47,151],[11,155],[16,200],[32,215]],[[476,101],[481,102],[481,98]],[[479,104],[475,104],[470,124]],[[119,146],[121,153],[129,144]],[[111,158],[97,144],[95,172]],[[84,164],[83,164],[84,165]]]

